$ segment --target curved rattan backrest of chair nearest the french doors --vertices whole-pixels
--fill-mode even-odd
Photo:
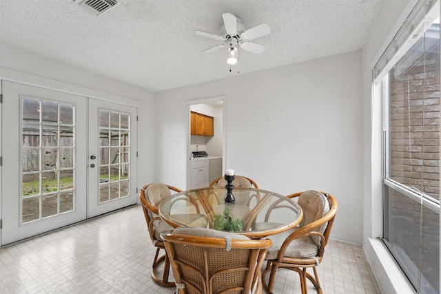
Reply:
[[[158,205],[164,198],[172,195],[172,191],[181,192],[181,190],[176,187],[161,183],[148,184],[139,190],[139,199],[141,200],[145,222],[147,222],[152,241],[156,240],[154,231],[158,222],[161,221],[158,217]]]

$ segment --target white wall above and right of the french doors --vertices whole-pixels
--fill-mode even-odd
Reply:
[[[152,92],[1,42],[0,79],[138,107],[137,186],[142,187],[147,182],[154,182]]]

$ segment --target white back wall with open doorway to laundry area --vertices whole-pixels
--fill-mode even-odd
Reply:
[[[156,93],[156,180],[185,187],[185,101],[221,95],[226,168],[283,194],[334,194],[332,238],[361,244],[362,52]]]

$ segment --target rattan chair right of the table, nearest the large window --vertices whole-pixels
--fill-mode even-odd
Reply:
[[[298,204],[303,211],[302,222],[291,231],[269,237],[273,246],[267,252],[263,287],[273,293],[276,271],[283,268],[296,271],[300,275],[302,293],[307,293],[307,279],[314,284],[318,293],[323,293],[316,266],[322,262],[325,253],[338,210],[337,200],[329,193],[318,191],[294,193],[287,197],[298,197]],[[313,269],[314,276],[307,273],[308,268]],[[267,273],[268,282],[265,280]]]

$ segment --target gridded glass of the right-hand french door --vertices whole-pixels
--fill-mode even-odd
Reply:
[[[100,203],[128,196],[130,177],[130,114],[100,109],[100,116],[109,117],[110,130],[100,131]],[[102,123],[105,118],[99,118]],[[111,146],[111,147],[107,147]],[[122,182],[123,181],[123,182]]]

